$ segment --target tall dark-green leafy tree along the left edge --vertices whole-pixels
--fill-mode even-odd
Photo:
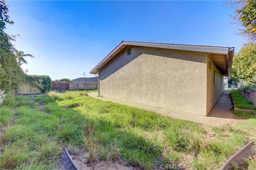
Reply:
[[[25,78],[14,52],[14,47],[11,41],[15,40],[14,36],[9,36],[6,32],[6,24],[13,24],[10,20],[9,10],[5,1],[1,3],[1,15],[0,15],[0,88],[5,93],[17,90],[19,83]]]

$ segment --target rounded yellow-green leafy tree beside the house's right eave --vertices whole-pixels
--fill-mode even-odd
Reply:
[[[256,43],[244,45],[234,56],[231,77],[256,84]]]

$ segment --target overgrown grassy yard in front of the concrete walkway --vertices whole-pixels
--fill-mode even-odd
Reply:
[[[124,160],[142,169],[172,163],[183,169],[219,169],[256,138],[255,124],[255,118],[221,127],[172,120],[94,99],[85,91],[17,96],[1,106],[0,168],[57,168],[66,145],[84,146],[90,163]]]

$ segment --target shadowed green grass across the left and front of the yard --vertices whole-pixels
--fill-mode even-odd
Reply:
[[[73,99],[70,96],[65,98]],[[153,164],[162,160],[162,146],[142,133],[143,122],[133,121],[133,127],[138,128],[136,131],[122,129],[123,125],[118,122],[78,112],[79,109],[73,107],[81,106],[79,103],[64,108],[65,103],[61,105],[46,95],[19,97],[19,100],[12,105],[16,118],[2,136],[1,168],[52,168],[60,160],[62,145],[85,145],[91,162],[96,157],[108,160],[106,151],[113,152],[111,159],[122,157],[127,164],[145,169],[151,169]],[[106,114],[108,109],[112,108],[96,108],[94,115]]]

